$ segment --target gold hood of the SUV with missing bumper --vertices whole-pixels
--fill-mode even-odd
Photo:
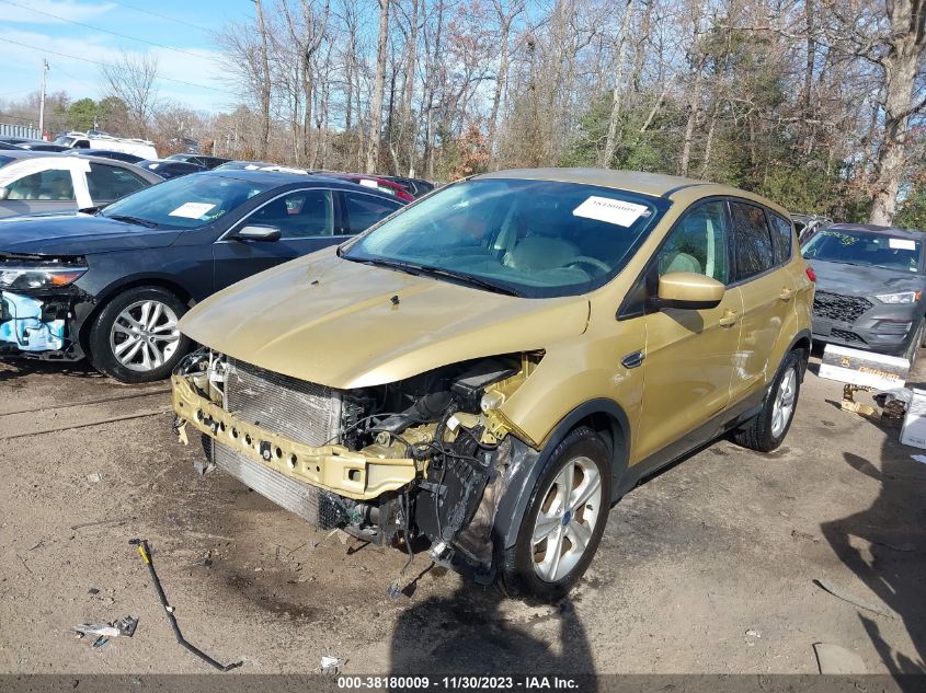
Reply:
[[[582,334],[588,310],[584,297],[501,296],[341,259],[327,249],[216,293],[180,327],[232,358],[350,389],[545,348]]]

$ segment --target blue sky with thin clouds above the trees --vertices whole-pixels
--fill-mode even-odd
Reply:
[[[0,0],[0,100],[38,91],[43,58],[48,93],[99,100],[98,63],[125,51],[157,57],[159,99],[194,111],[228,108],[235,95],[210,32],[247,20],[253,8],[251,0]]]

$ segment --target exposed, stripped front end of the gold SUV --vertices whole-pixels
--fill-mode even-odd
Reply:
[[[338,390],[208,349],[174,371],[181,440],[204,434],[207,464],[320,529],[493,574],[493,527],[513,464],[537,454],[500,411],[542,351],[476,359]]]

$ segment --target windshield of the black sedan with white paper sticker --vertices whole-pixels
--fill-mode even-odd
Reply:
[[[268,183],[193,174],[152,185],[106,207],[101,215],[174,229],[215,221],[271,187]]]

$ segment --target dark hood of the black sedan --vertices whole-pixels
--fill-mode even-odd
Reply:
[[[0,219],[0,253],[92,255],[164,247],[180,233],[81,212],[8,217]]]

